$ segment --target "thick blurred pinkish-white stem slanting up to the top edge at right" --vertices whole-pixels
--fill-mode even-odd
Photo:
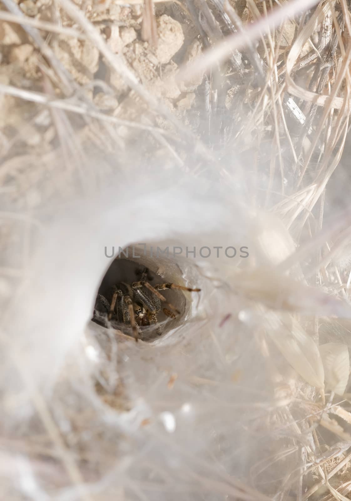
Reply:
[[[229,35],[211,51],[198,56],[190,65],[183,65],[178,73],[177,80],[187,81],[199,73],[205,73],[214,64],[222,63],[234,49],[241,49],[259,40],[269,29],[276,28],[282,21],[294,17],[297,13],[306,11],[318,3],[318,0],[291,0],[281,8],[275,8],[268,18],[261,18],[251,24],[245,32]]]

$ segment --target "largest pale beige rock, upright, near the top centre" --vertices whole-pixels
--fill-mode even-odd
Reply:
[[[158,44],[156,56],[160,63],[168,63],[184,42],[181,24],[164,14],[157,19]]]

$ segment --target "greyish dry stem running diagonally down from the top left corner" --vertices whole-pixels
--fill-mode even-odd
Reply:
[[[12,14],[18,17],[18,19],[22,19],[24,17],[21,9],[13,2],[13,0],[1,0],[5,7]],[[63,67],[61,61],[55,56],[54,52],[48,46],[48,44],[42,39],[39,31],[32,26],[24,25],[23,29],[28,33],[28,35],[34,40],[37,47],[41,50],[44,57],[48,59],[52,68],[55,68],[56,73],[61,78],[62,83],[65,86],[65,93],[71,94],[75,83],[73,81],[73,77],[68,73],[68,71]]]

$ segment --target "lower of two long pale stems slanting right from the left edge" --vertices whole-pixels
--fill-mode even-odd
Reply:
[[[131,122],[129,120],[123,120],[121,118],[116,118],[111,115],[106,115],[105,113],[99,113],[98,111],[93,111],[90,110],[87,106],[84,104],[78,106],[75,104],[71,104],[68,100],[66,99],[51,99],[49,96],[46,94],[42,94],[40,92],[34,92],[34,91],[27,91],[24,89],[18,89],[17,87],[13,87],[11,85],[3,85],[0,84],[0,93],[1,94],[7,94],[9,96],[15,96],[19,97],[22,99],[25,99],[26,101],[32,101],[34,103],[40,103],[44,104],[46,106],[51,106],[54,108],[58,108],[61,110],[66,110],[66,111],[71,111],[73,113],[78,113],[79,115],[87,115],[92,118],[96,118],[98,120],[102,120],[104,122],[111,122],[116,125],[124,125],[127,127],[132,127],[136,129],[141,129],[141,130],[147,130],[147,131],[156,131],[158,134],[165,134],[165,135],[170,135],[167,131],[163,129],[159,129],[157,127],[153,127],[151,125],[143,125],[139,124],[136,122]]]

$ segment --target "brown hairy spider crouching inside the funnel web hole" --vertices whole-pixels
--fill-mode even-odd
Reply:
[[[152,286],[148,282],[148,272],[149,270],[144,268],[140,281],[133,282],[131,285],[125,282],[114,285],[111,292],[111,304],[102,294],[98,294],[93,320],[104,324],[107,324],[107,320],[111,324],[117,322],[130,325],[136,341],[141,335],[141,328],[151,324],[155,325],[156,334],[161,336],[162,328],[157,318],[157,314],[161,310],[161,301],[167,306],[167,308],[163,308],[163,312],[167,317],[175,319],[175,314],[179,315],[180,311],[169,303],[159,291],[177,289],[180,291],[200,292],[201,289],[191,289],[171,283]]]

